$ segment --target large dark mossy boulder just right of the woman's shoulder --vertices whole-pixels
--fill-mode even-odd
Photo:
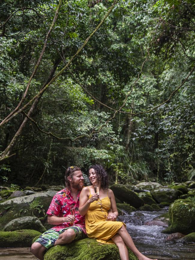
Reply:
[[[125,187],[125,185],[113,184],[110,189],[117,198],[120,198],[122,202],[126,202],[135,208],[139,208],[144,205],[143,199],[137,196],[135,192]]]

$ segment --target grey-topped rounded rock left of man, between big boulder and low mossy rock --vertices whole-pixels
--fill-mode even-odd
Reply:
[[[15,231],[19,229],[33,229],[41,233],[45,232],[46,229],[42,225],[41,221],[37,217],[21,217],[11,220],[4,227],[4,231]]]

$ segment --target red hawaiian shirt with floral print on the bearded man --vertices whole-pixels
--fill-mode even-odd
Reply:
[[[70,190],[64,188],[63,190],[58,191],[52,199],[52,202],[48,208],[47,214],[56,216],[56,217],[66,217],[70,214],[70,205],[75,205],[75,221],[74,226],[79,226],[82,231],[86,234],[85,230],[85,216],[79,214],[79,196],[80,191],[77,193],[77,201],[74,201],[73,196],[70,193]],[[59,226],[52,227],[55,231],[64,229],[72,226],[70,222],[64,222]]]

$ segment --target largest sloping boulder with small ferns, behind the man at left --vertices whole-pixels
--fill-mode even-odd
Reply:
[[[0,203],[0,230],[18,217],[44,217],[56,191],[39,192]],[[46,223],[46,219],[45,219]],[[43,223],[43,225],[45,224]]]

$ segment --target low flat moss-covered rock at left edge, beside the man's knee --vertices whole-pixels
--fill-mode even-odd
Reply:
[[[36,230],[0,231],[0,247],[31,247],[32,240],[41,235]]]

